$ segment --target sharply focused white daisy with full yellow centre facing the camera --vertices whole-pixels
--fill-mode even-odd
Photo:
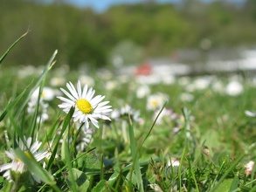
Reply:
[[[111,106],[107,106],[109,101],[101,102],[105,96],[97,95],[93,98],[95,91],[92,87],[84,86],[83,89],[80,85],[80,81],[77,83],[77,90],[71,82],[66,83],[66,87],[69,93],[60,88],[60,90],[66,94],[66,97],[57,97],[64,101],[59,105],[65,113],[68,113],[71,107],[74,107],[73,121],[79,121],[85,123],[86,129],[89,127],[89,122],[93,123],[93,126],[99,128],[98,119],[110,120],[107,117],[107,113],[111,112]]]

